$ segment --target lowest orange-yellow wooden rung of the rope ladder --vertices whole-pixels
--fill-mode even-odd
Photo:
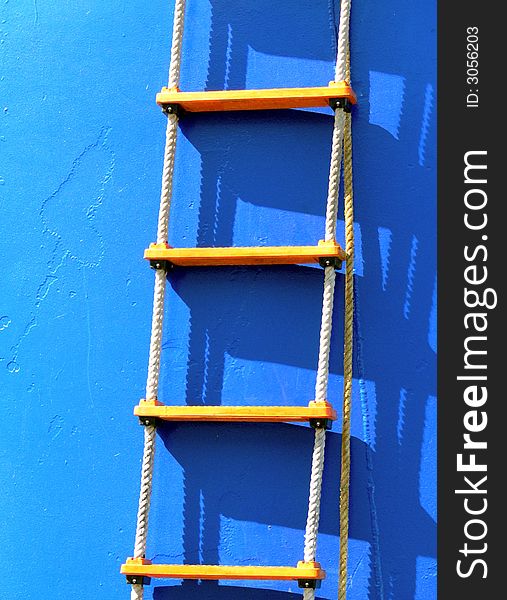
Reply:
[[[128,558],[121,566],[124,575],[163,579],[324,579],[326,572],[317,562],[298,562],[297,567],[234,567],[223,565],[154,565],[145,559]]]

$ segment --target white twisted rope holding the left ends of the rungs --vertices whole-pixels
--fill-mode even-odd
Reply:
[[[173,39],[171,46],[171,64],[169,67],[168,87],[177,87],[181,69],[181,47],[185,22],[185,0],[176,0],[173,20]],[[166,143],[164,150],[164,166],[162,171],[162,189],[160,193],[160,210],[157,226],[157,243],[166,243],[169,230],[169,212],[171,208],[174,158],[176,153],[176,138],[178,131],[177,115],[168,115],[166,128]],[[155,289],[153,294],[153,317],[151,323],[150,354],[148,360],[148,377],[146,382],[146,398],[157,398],[160,379],[160,355],[162,352],[162,332],[164,320],[164,300],[166,273],[157,269],[155,273]],[[134,557],[143,558],[146,553],[148,536],[148,516],[150,511],[153,462],[155,458],[155,427],[144,428],[144,450],[141,467],[141,491],[139,494],[139,509],[137,512],[136,540]],[[143,600],[142,585],[131,586],[131,600]]]

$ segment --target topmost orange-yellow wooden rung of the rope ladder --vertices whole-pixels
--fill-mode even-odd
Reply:
[[[157,104],[159,106],[176,104],[188,112],[210,112],[312,108],[329,106],[329,100],[334,98],[346,98],[352,104],[357,102],[354,91],[346,81],[331,81],[324,87],[216,92],[181,92],[177,88],[164,87],[157,94]]]

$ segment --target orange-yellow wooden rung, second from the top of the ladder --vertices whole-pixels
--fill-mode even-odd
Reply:
[[[150,244],[144,258],[184,267],[227,265],[297,265],[321,259],[341,262],[346,254],[335,241],[321,240],[317,246],[252,246],[232,248],[171,248]]]

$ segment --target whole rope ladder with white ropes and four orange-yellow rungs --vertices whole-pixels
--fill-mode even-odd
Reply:
[[[146,399],[134,409],[145,426],[141,493],[137,518],[134,556],[121,566],[132,585],[132,600],[143,598],[144,585],[151,577],[172,579],[294,580],[304,590],[305,599],[315,597],[315,588],[325,577],[316,562],[316,537],[319,524],[320,492],[324,467],[325,431],[336,412],[327,402],[329,351],[336,269],[348,258],[336,242],[338,189],[342,144],[351,105],[356,96],[349,85],[348,23],[350,0],[342,2],[340,40],[335,81],[326,87],[182,92],[178,88],[185,0],[176,0],[171,48],[169,83],[157,94],[168,117],[161,206],[157,242],[145,251],[155,269],[155,293]],[[341,77],[339,77],[341,75]],[[176,134],[179,118],[185,112],[231,110],[273,110],[330,106],[335,111],[330,182],[326,210],[326,235],[314,246],[262,246],[232,248],[173,248],[167,243],[169,208],[172,194]],[[350,117],[350,115],[348,115]],[[351,221],[351,219],[349,219]],[[350,229],[352,223],[350,222]],[[350,235],[353,235],[352,233]],[[348,240],[347,240],[348,246]],[[168,271],[179,267],[220,267],[229,265],[288,265],[319,263],[324,269],[324,299],[320,333],[319,362],[315,399],[301,406],[167,406],[157,399],[165,285]],[[351,264],[351,263],[350,263]],[[350,265],[348,265],[350,266]],[[352,270],[350,270],[352,277]],[[345,375],[345,374],[344,374]],[[345,381],[345,376],[344,376]],[[225,422],[309,422],[315,429],[315,445],[310,480],[310,501],[305,534],[304,559],[293,566],[224,566],[152,564],[145,558],[148,513],[151,498],[155,436],[158,421]],[[345,422],[345,419],[344,419]],[[347,485],[348,487],[348,485]],[[348,500],[347,500],[348,504]]]

